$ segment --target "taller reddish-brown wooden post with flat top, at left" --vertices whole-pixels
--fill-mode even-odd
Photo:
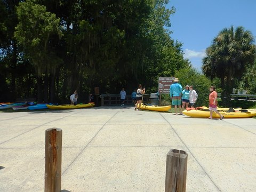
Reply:
[[[45,131],[45,192],[61,191],[62,130],[51,128]]]

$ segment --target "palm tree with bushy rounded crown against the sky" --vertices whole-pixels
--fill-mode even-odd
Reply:
[[[208,77],[221,78],[222,104],[229,106],[235,78],[241,78],[247,65],[254,61],[256,46],[249,30],[239,26],[220,31],[206,50],[203,72]]]

